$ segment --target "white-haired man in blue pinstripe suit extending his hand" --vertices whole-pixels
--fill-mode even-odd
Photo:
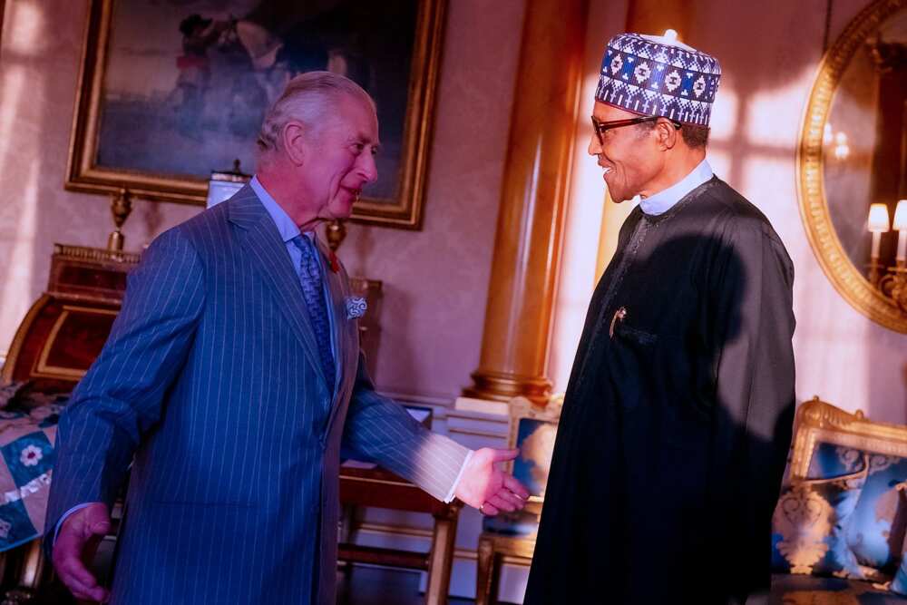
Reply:
[[[527,496],[495,463],[377,395],[343,268],[313,235],[375,181],[374,102],[332,73],[288,84],[258,174],[155,239],[58,436],[45,541],[80,598],[336,600],[340,449],[486,514]],[[81,557],[132,463],[111,592]]]

